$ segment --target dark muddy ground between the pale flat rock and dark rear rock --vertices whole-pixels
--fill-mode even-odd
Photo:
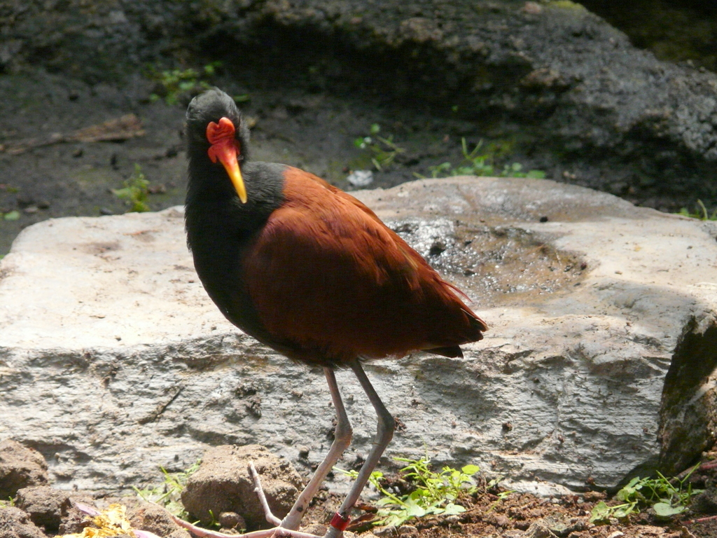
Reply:
[[[392,187],[416,179],[415,174],[430,176],[429,166],[460,163],[461,138],[474,145],[482,139],[470,122],[381,108],[358,97],[277,92],[221,76],[212,83],[248,96],[242,109],[252,125],[251,159],[298,166],[345,190],[355,188],[346,180],[353,170],[373,170],[369,188]],[[128,211],[111,189],[123,187],[137,165],[149,181],[152,210],[184,204],[181,131],[189,94],[168,105],[151,100],[155,89],[140,75],[123,88],[87,85],[42,70],[0,76],[0,255],[9,252],[24,227],[40,220]],[[70,139],[80,129],[130,113],[141,121],[141,136]],[[355,145],[374,124],[379,136],[393,137],[402,149],[381,171],[371,162],[371,151]],[[53,143],[60,139],[65,141]]]

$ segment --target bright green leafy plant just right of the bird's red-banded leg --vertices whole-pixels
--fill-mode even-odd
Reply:
[[[411,460],[396,458],[397,461],[408,463],[401,469],[404,478],[414,484],[415,489],[407,495],[397,495],[388,491],[381,483],[384,473],[374,471],[369,482],[381,495],[378,501],[379,520],[376,525],[399,526],[408,519],[427,516],[429,514],[452,515],[465,512],[465,508],[457,504],[460,498],[474,494],[476,486],[473,475],[480,471],[475,465],[467,465],[459,470],[445,466],[438,473],[431,471],[429,458]],[[356,471],[343,471],[352,478],[356,478]]]

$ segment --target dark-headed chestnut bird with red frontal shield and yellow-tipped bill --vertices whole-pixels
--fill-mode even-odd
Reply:
[[[341,538],[394,432],[362,362],[414,351],[462,357],[460,346],[482,339],[488,326],[467,296],[358,199],[293,166],[251,161],[247,121],[224,91],[191,100],[185,134],[185,230],[206,293],[244,333],[288,359],[322,367],[336,411],[331,448],[288,515],[267,510],[275,527],[245,536],[313,536],[298,530],[301,516],[351,443],[334,373],[348,368],[378,425],[324,535]]]

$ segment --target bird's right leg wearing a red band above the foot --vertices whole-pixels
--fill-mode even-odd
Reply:
[[[336,515],[333,516],[331,526],[328,527],[324,538],[341,538],[343,536],[343,529],[346,529],[346,525],[348,524],[348,513],[353,508],[353,505],[356,504],[356,501],[359,500],[361,491],[364,491],[371,472],[374,471],[376,464],[379,463],[381,454],[384,453],[386,446],[391,442],[391,438],[394,436],[394,428],[396,427],[394,417],[386,410],[384,403],[381,402],[381,398],[376,394],[376,390],[374,390],[371,382],[369,382],[369,378],[366,377],[366,372],[364,372],[363,367],[361,367],[359,359],[354,359],[349,365],[353,373],[356,374],[356,377],[359,378],[359,383],[361,383],[361,387],[364,388],[364,392],[366,392],[366,395],[369,397],[371,405],[374,406],[379,424],[376,429],[374,445],[369,451],[369,456],[366,457],[364,465],[361,466],[359,476],[356,477],[356,481],[348,491],[346,499],[343,499],[341,507],[338,509],[338,512],[336,512]]]

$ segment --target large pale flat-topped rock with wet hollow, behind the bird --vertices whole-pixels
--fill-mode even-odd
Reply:
[[[688,421],[674,417],[707,416],[715,397],[717,359],[704,345],[717,306],[713,223],[531,179],[359,196],[490,325],[464,359],[367,365],[403,424],[389,458],[427,452],[579,488],[614,486],[657,465],[660,450],[674,465],[713,443],[699,420],[690,443],[658,441],[683,436],[675,428]],[[333,410],[320,369],[241,334],[191,266],[180,209],[42,222],[0,263],[0,438],[41,450],[58,486],[140,485],[224,443],[323,458]],[[338,382],[352,462],[374,413],[350,372]]]

